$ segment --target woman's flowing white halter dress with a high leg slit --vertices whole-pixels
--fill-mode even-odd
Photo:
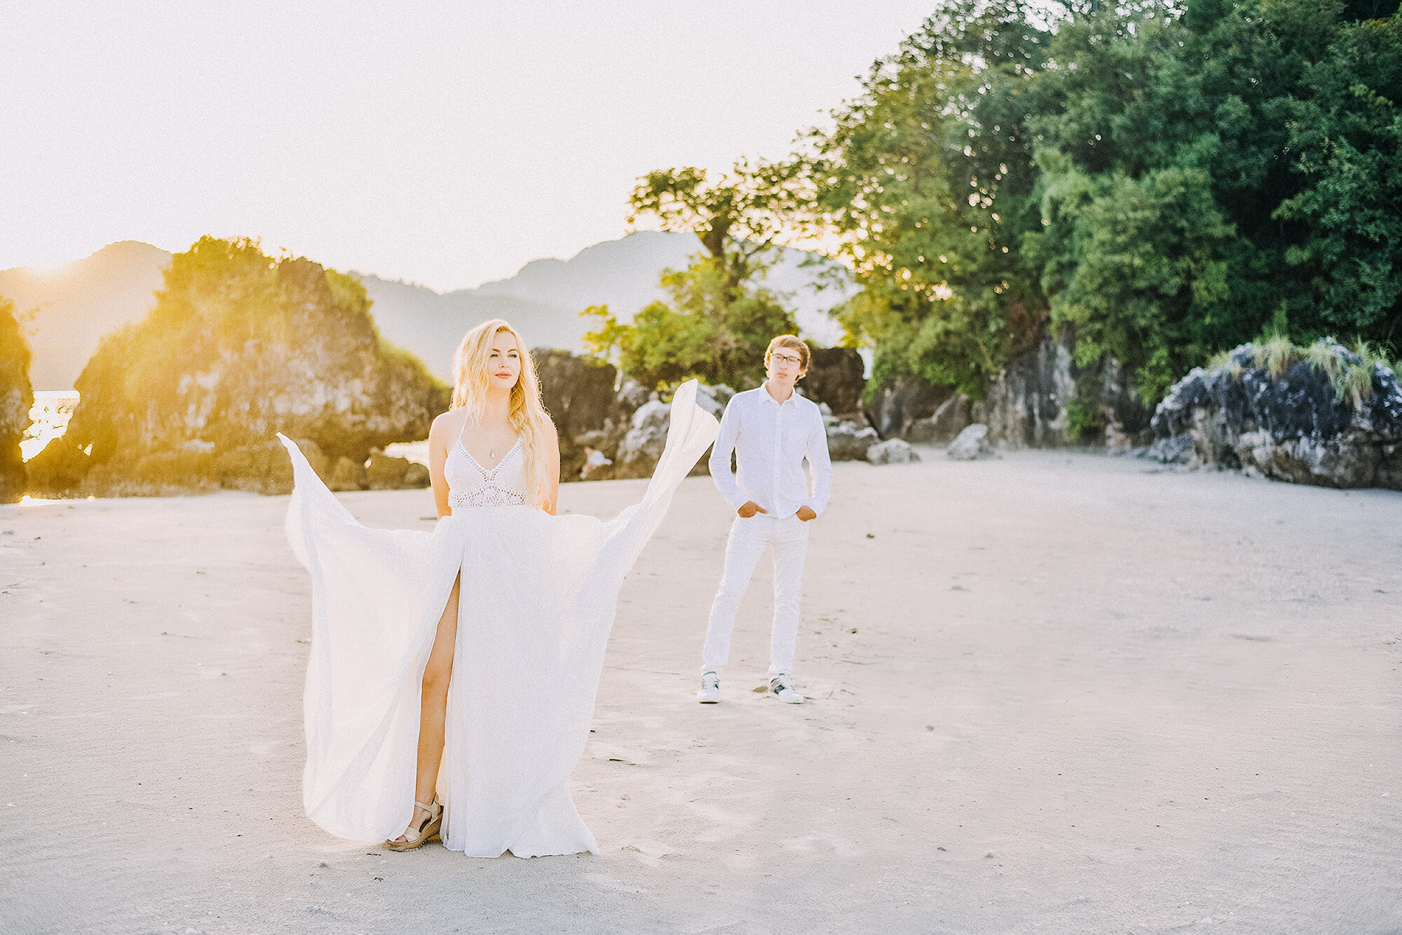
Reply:
[[[409,824],[423,667],[461,573],[443,842],[470,856],[597,852],[569,774],[618,587],[716,430],[695,383],[679,387],[642,502],[607,523],[524,507],[519,444],[492,471],[456,446],[444,464],[453,514],[432,533],[360,526],[283,439],[296,474],[287,540],[313,583],[307,816],[356,841]]]

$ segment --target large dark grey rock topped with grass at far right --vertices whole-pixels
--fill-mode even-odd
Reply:
[[[1402,387],[1381,363],[1338,342],[1305,355],[1241,345],[1225,363],[1193,369],[1154,414],[1154,433],[1193,442],[1190,467],[1239,468],[1279,481],[1402,491]],[[1342,374],[1360,380],[1345,391]]]

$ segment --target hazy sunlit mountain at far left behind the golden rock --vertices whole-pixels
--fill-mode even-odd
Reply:
[[[123,240],[53,272],[0,271],[0,296],[20,314],[36,310],[25,328],[34,388],[72,388],[102,335],[151,310],[170,261],[158,247]]]

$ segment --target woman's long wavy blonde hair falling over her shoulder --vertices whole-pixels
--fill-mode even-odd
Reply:
[[[465,335],[453,355],[453,408],[465,408],[468,422],[481,423],[486,409],[486,387],[491,376],[488,357],[492,342],[499,332],[508,332],[516,339],[516,350],[522,359],[520,377],[512,387],[506,421],[522,436],[522,454],[526,456],[526,489],[531,492],[534,506],[545,502],[550,481],[550,465],[545,463],[545,443],[555,425],[545,415],[540,401],[540,381],[536,378],[536,364],[526,350],[520,334],[501,318],[492,318],[477,325]]]

